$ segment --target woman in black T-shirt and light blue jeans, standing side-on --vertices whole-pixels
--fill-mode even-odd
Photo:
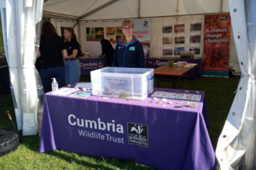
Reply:
[[[81,66],[78,59],[79,43],[73,29],[64,29],[63,35],[67,39],[67,58],[64,63],[66,70],[65,81],[66,84],[78,83],[81,75]]]

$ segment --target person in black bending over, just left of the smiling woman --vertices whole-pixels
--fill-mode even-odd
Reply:
[[[115,49],[112,47],[109,40],[104,39],[103,36],[99,38],[99,41],[102,44],[102,55],[106,55],[109,66],[112,66]]]

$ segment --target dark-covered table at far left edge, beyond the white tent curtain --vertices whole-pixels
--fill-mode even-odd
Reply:
[[[0,95],[11,93],[9,66],[0,66]]]

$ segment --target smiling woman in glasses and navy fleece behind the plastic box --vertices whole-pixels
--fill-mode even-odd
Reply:
[[[122,23],[122,40],[117,43],[113,66],[144,68],[144,49],[142,44],[133,36],[133,22],[124,20]]]

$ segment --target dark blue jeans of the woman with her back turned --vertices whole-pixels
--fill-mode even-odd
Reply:
[[[51,91],[51,83],[53,82],[52,78],[55,78],[58,83],[58,87],[63,87],[64,76],[65,76],[65,67],[59,66],[50,69],[41,69],[40,76],[43,83],[44,93]]]

